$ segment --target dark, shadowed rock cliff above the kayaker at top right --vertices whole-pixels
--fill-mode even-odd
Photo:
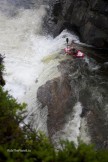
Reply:
[[[108,47],[107,0],[53,1],[48,24],[55,36],[68,28],[79,33],[82,42]]]

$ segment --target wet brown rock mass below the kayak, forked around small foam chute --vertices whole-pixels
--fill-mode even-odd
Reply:
[[[61,76],[38,89],[37,97],[48,107],[47,127],[52,137],[68,122],[73,106],[80,101],[81,117],[87,119],[92,143],[97,148],[108,148],[108,77],[105,67],[97,69],[96,62],[82,59],[62,61],[58,66]],[[107,70],[107,69],[106,69]]]

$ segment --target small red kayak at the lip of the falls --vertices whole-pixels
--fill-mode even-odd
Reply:
[[[83,52],[81,52],[80,50],[76,50],[74,48],[71,48],[71,47],[66,47],[64,49],[64,51],[65,51],[65,53],[67,55],[72,55],[72,56],[74,56],[76,58],[83,58],[84,57],[84,53]]]

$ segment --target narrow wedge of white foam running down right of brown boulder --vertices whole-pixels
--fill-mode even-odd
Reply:
[[[68,118],[68,122],[65,124],[64,129],[57,132],[53,139],[58,142],[59,138],[68,139],[73,141],[76,146],[78,146],[78,137],[80,136],[80,126],[81,126],[81,113],[82,106],[80,102],[77,102],[73,107],[72,114]]]

